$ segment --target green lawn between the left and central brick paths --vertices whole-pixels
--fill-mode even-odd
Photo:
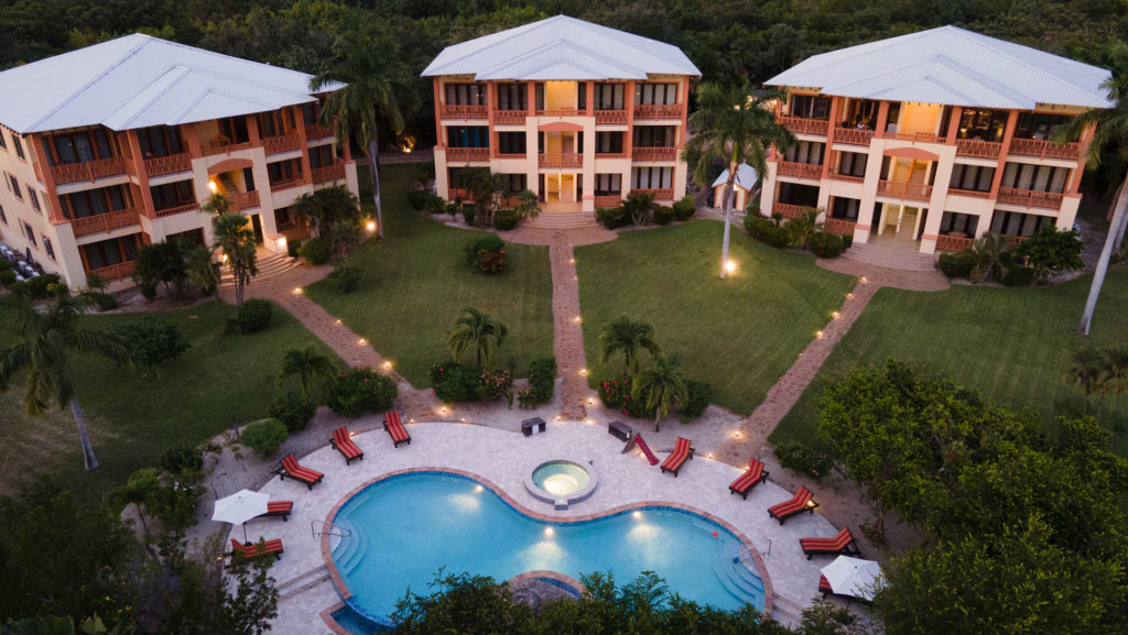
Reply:
[[[380,169],[387,238],[369,240],[349,257],[349,265],[364,270],[360,289],[345,296],[323,281],[307,294],[391,359],[416,387],[430,386],[431,364],[450,358],[447,334],[462,307],[476,307],[509,327],[493,365],[512,365],[522,376],[530,361],[553,354],[548,248],[510,245],[504,274],[474,271],[466,248],[484,233],[412,211],[406,193],[416,169]]]

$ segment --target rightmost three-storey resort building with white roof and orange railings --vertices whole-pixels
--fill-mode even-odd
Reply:
[[[952,26],[814,55],[766,82],[799,143],[768,162],[760,211],[818,208],[828,231],[926,254],[1069,229],[1093,130],[1050,138],[1111,105],[1109,76]]]

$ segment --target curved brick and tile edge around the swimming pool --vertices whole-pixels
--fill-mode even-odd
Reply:
[[[367,480],[367,482],[358,485],[356,487],[353,487],[349,493],[346,493],[336,503],[334,503],[333,509],[331,509],[329,513],[327,513],[325,515],[325,522],[332,527],[333,526],[333,520],[337,517],[337,512],[341,511],[341,508],[343,508],[345,505],[345,503],[347,503],[350,500],[352,500],[353,496],[360,494],[361,492],[363,492],[368,487],[371,487],[372,485],[376,485],[377,483],[379,483],[381,480],[387,480],[388,478],[394,478],[394,477],[397,477],[397,476],[404,476],[404,475],[407,475],[407,474],[415,474],[415,473],[432,473],[432,474],[440,473],[440,474],[450,474],[450,475],[453,475],[453,476],[460,476],[462,478],[469,478],[472,480],[475,480],[475,482],[482,484],[485,487],[488,487],[491,491],[493,491],[494,494],[496,494],[502,500],[502,502],[504,502],[505,504],[508,504],[510,508],[512,508],[518,513],[525,514],[526,517],[539,520],[541,522],[548,522],[548,523],[553,523],[553,524],[571,524],[573,522],[590,522],[590,521],[596,520],[596,519],[600,519],[600,518],[605,518],[605,517],[610,517],[610,515],[616,515],[616,514],[622,514],[622,513],[625,513],[625,512],[628,512],[628,511],[645,510],[645,509],[652,509],[652,508],[669,508],[669,509],[676,509],[676,510],[681,510],[681,511],[686,511],[686,512],[689,512],[689,513],[697,514],[697,515],[699,515],[699,517],[702,517],[702,518],[704,518],[704,519],[706,519],[708,521],[715,522],[716,524],[720,524],[721,527],[723,527],[725,530],[728,530],[733,536],[735,536],[737,539],[740,540],[740,544],[746,549],[748,549],[750,553],[754,554],[751,559],[752,559],[752,562],[756,563],[757,575],[760,576],[760,581],[764,583],[764,611],[763,612],[764,612],[765,617],[770,617],[772,616],[773,597],[775,596],[775,592],[774,592],[773,587],[772,587],[772,579],[768,576],[768,567],[767,567],[767,564],[764,562],[764,557],[754,548],[752,541],[748,539],[748,536],[744,536],[744,533],[742,531],[740,531],[739,529],[737,529],[735,527],[733,527],[732,523],[730,523],[729,521],[724,520],[723,518],[720,518],[720,517],[717,517],[715,514],[712,514],[712,513],[710,513],[707,511],[699,510],[699,509],[690,506],[690,505],[684,505],[681,503],[675,503],[675,502],[670,502],[670,501],[643,501],[643,502],[638,502],[638,503],[628,503],[628,504],[625,504],[625,505],[619,505],[617,508],[611,508],[611,509],[609,509],[607,511],[599,512],[599,513],[590,513],[590,514],[583,514],[583,515],[578,515],[578,517],[567,517],[567,518],[553,517],[553,515],[540,513],[538,511],[535,511],[535,510],[531,510],[529,508],[526,508],[520,502],[518,502],[517,500],[514,500],[512,496],[510,496],[509,494],[506,494],[504,490],[502,490],[501,487],[499,487],[497,485],[495,485],[492,480],[490,480],[488,478],[485,478],[484,476],[474,474],[473,471],[468,471],[468,470],[465,470],[465,469],[449,468],[449,467],[411,467],[411,468],[397,469],[397,470],[394,470],[394,471],[388,471],[388,473],[381,474],[380,476],[370,478],[369,480]],[[329,547],[329,535],[328,533],[321,533],[321,558],[325,561],[325,568],[328,571],[329,580],[333,581],[333,587],[337,590],[337,594],[341,596],[341,599],[342,600],[349,600],[350,598],[352,598],[352,592],[349,590],[349,587],[345,584],[345,581],[341,576],[341,573],[337,572],[337,565],[333,561],[333,549]]]

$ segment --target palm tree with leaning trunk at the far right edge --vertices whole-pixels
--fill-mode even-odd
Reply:
[[[1101,165],[1101,152],[1104,149],[1128,145],[1128,73],[1109,78],[1103,88],[1109,91],[1109,99],[1113,102],[1111,107],[1082,113],[1068,124],[1054,131],[1052,135],[1052,139],[1058,142],[1073,141],[1079,138],[1089,126],[1096,124],[1093,139],[1085,151],[1085,165],[1089,168]],[[1128,174],[1125,175],[1123,183],[1117,189],[1109,233],[1104,237],[1104,247],[1096,262],[1096,271],[1093,272],[1093,284],[1089,288],[1089,299],[1085,300],[1085,311],[1081,316],[1081,325],[1077,326],[1077,333],[1083,335],[1089,335],[1089,325],[1093,320],[1093,311],[1096,310],[1096,299],[1104,284],[1104,274],[1109,271],[1109,261],[1112,257],[1112,252],[1119,248],[1120,241],[1123,239],[1125,228],[1128,227],[1126,208],[1128,208]]]

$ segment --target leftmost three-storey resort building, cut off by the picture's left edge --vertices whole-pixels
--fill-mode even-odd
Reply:
[[[129,283],[141,245],[210,242],[213,192],[287,252],[288,206],[356,193],[310,76],[130,35],[0,73],[0,238],[70,286]]]

